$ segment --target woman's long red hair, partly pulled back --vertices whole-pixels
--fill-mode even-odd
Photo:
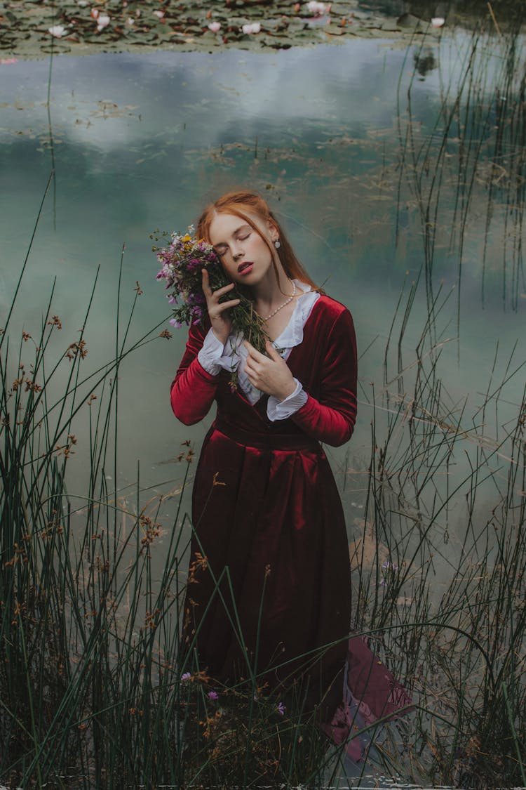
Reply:
[[[261,235],[261,231],[259,231],[259,228],[252,217],[259,217],[259,220],[261,220],[264,224],[270,222],[270,224],[274,225],[274,228],[276,228],[279,234],[281,246],[279,248],[278,257],[282,262],[283,269],[285,269],[286,276],[288,276],[290,280],[300,280],[301,283],[310,285],[315,291],[320,290],[315,282],[311,280],[311,277],[305,271],[304,266],[297,259],[292,246],[290,246],[289,240],[283,232],[281,225],[275,218],[274,214],[270,211],[267,202],[264,201],[259,194],[256,194],[255,192],[244,191],[227,192],[226,194],[222,195],[221,198],[218,198],[218,200],[214,201],[210,205],[207,205],[207,208],[204,209],[197,222],[196,228],[197,237],[199,239],[204,239],[204,241],[207,243],[210,243],[210,225],[216,214],[233,214],[234,216],[239,216],[242,220],[244,220],[244,222],[249,224],[251,228],[253,228],[267,244],[270,252],[272,253],[272,262],[276,271],[276,276],[278,276],[278,270],[276,269],[276,265],[274,263],[274,254],[277,254],[278,251],[274,250],[274,247],[271,245],[270,241]]]

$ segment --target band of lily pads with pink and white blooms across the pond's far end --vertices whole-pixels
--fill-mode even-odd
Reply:
[[[92,55],[124,51],[275,51],[335,43],[349,37],[433,39],[444,26],[492,30],[513,27],[514,0],[416,2],[138,2],[138,0],[3,0],[0,60],[43,55]]]

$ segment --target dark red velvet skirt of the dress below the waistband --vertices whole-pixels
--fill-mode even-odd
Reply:
[[[342,678],[351,616],[345,519],[319,443],[216,419],[192,518],[185,638],[197,634],[202,668],[222,683],[308,679],[319,702]]]

